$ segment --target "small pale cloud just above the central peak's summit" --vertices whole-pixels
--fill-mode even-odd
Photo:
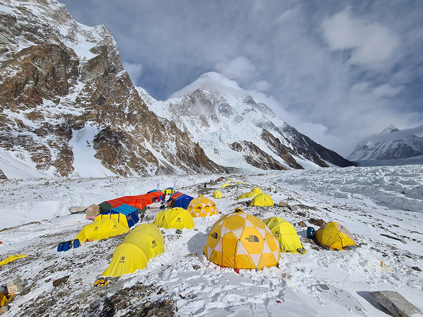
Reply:
[[[245,56],[238,56],[229,62],[217,63],[216,70],[230,79],[245,80],[254,76],[257,68]]]

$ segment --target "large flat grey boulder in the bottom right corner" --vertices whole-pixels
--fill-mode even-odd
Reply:
[[[370,292],[376,302],[386,308],[392,316],[412,317],[422,314],[421,310],[406,300],[400,293],[393,291]]]

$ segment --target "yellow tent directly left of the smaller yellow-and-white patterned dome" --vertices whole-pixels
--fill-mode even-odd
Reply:
[[[153,224],[166,229],[192,229],[195,226],[188,210],[180,207],[160,211]]]

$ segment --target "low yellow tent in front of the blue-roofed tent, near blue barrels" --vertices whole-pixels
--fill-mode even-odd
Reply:
[[[105,218],[85,225],[75,239],[79,239],[80,243],[85,243],[86,241],[108,239],[128,231],[128,227],[120,225],[115,219]]]

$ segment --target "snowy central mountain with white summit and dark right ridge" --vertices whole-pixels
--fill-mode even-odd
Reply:
[[[150,99],[147,106],[174,120],[220,165],[256,171],[352,165],[219,73],[206,73],[170,99]]]

